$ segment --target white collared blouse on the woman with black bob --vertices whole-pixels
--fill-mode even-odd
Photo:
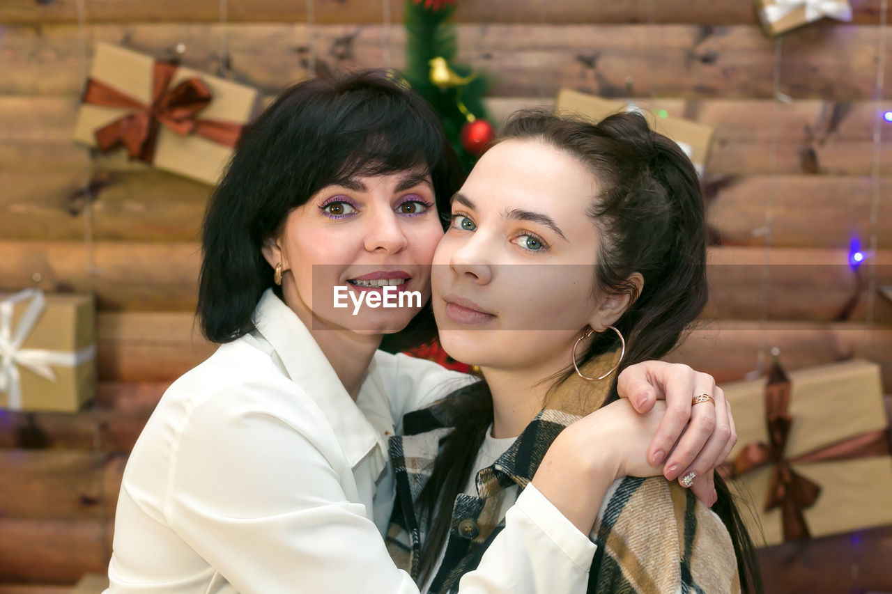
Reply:
[[[106,592],[417,593],[382,538],[387,438],[468,376],[378,351],[354,402],[271,290],[254,319],[171,384],[136,441]],[[594,549],[530,485],[461,591],[585,591]]]

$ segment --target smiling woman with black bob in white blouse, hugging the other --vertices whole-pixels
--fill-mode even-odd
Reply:
[[[202,229],[198,314],[221,346],[170,386],[130,455],[108,591],[417,592],[382,537],[387,438],[469,378],[378,346],[433,335],[437,198],[459,181],[434,113],[379,76],[301,83],[245,131]],[[417,300],[374,308],[388,292]],[[626,380],[636,398],[649,391],[643,408],[664,393],[680,408],[657,440],[665,452],[711,386],[659,362]],[[719,417],[692,417],[668,458],[714,466],[695,457]],[[552,572],[565,590],[592,552],[530,489],[478,573],[485,591],[554,591],[537,585]],[[518,573],[530,585],[515,590]]]

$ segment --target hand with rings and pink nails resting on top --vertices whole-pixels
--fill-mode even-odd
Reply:
[[[678,478],[707,506],[713,505],[717,498],[713,470],[737,443],[731,405],[713,376],[680,363],[645,361],[624,369],[617,380],[617,392],[639,413],[650,411],[657,400],[665,400],[666,413],[653,434],[648,461],[653,466],[665,461],[667,480]],[[691,400],[698,394],[712,396],[714,404],[692,406]]]

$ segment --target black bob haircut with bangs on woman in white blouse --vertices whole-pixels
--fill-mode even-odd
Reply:
[[[285,90],[239,140],[202,225],[197,314],[211,342],[252,332],[252,313],[273,283],[261,247],[288,213],[326,186],[356,176],[424,168],[445,217],[464,173],[442,124],[420,96],[381,70],[313,78]],[[430,302],[382,348],[436,335]]]

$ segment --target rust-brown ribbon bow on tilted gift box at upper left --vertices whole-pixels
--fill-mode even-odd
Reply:
[[[161,125],[181,136],[196,134],[219,144],[235,146],[244,126],[228,121],[199,120],[198,113],[211,103],[211,91],[201,78],[187,78],[169,88],[176,71],[177,66],[173,64],[154,62],[151,105],[103,82],[89,79],[84,103],[135,110],[96,130],[96,143],[103,152],[123,144],[131,159],[151,163]]]

